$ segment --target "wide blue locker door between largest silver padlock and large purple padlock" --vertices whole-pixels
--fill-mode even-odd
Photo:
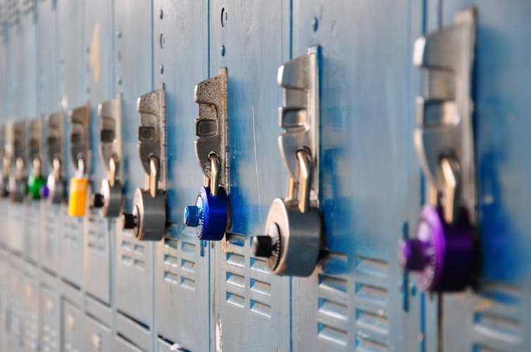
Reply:
[[[421,1],[293,3],[292,56],[322,46],[326,232],[317,270],[292,280],[296,350],[424,348],[419,294],[396,260],[420,203],[411,53],[422,23]]]

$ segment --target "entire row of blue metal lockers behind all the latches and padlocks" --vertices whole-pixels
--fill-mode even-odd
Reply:
[[[413,42],[469,5],[478,13],[480,277],[462,293],[424,294],[396,260],[423,189]],[[530,16],[527,0],[2,0],[1,121],[88,101],[98,187],[97,106],[122,94],[126,209],[144,184],[137,96],[165,84],[173,225],[141,242],[96,211],[69,218],[65,204],[2,199],[0,350],[531,349]],[[250,249],[285,194],[277,68],[316,44],[326,249],[311,277],[278,277]],[[211,246],[180,224],[202,180],[194,85],[220,67],[232,227]]]

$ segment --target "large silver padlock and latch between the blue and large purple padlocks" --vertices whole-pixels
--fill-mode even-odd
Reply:
[[[278,69],[284,89],[280,127],[285,130],[278,144],[288,172],[287,196],[273,201],[266,235],[255,237],[252,246],[277,275],[311,275],[319,258],[319,61],[320,47],[314,46]]]

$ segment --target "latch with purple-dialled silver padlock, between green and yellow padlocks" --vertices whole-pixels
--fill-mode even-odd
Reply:
[[[41,197],[49,203],[59,204],[66,195],[63,177],[65,161],[65,115],[63,111],[53,113],[46,118],[46,156],[51,165],[51,172],[46,185],[41,189]]]

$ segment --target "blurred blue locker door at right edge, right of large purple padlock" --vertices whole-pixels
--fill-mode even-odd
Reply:
[[[445,295],[444,351],[525,351],[531,346],[527,183],[531,163],[527,99],[531,73],[528,1],[442,1],[442,25],[465,6],[477,7],[475,127],[480,278],[477,289]]]

